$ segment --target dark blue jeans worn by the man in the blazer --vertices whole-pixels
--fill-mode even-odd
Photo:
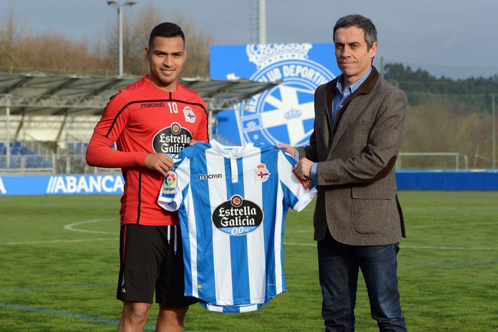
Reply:
[[[325,331],[355,331],[359,268],[379,331],[407,331],[401,315],[396,275],[398,243],[353,246],[337,242],[327,232],[317,246]]]

